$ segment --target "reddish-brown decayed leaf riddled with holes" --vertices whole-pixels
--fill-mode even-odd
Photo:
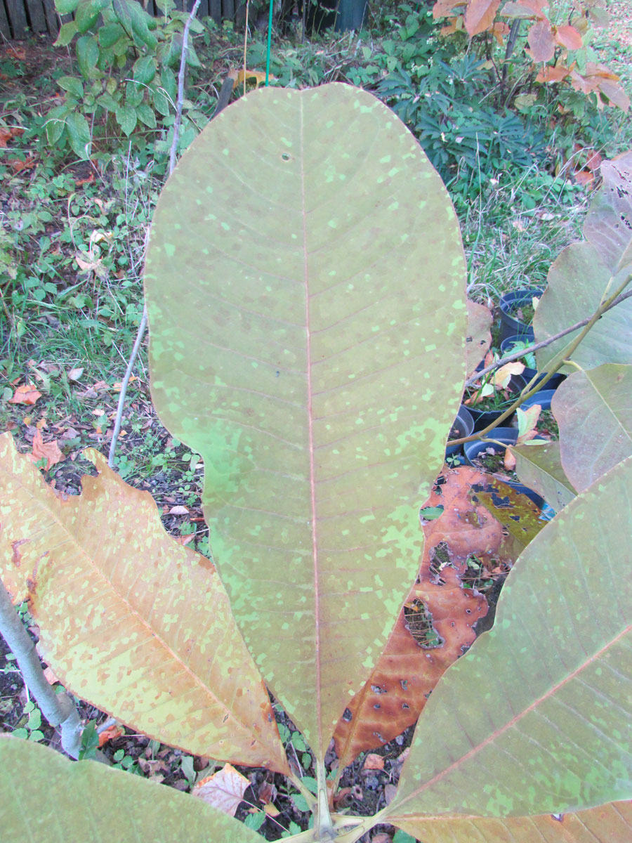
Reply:
[[[503,519],[513,515],[511,524],[519,535],[522,517],[533,515],[535,521],[537,507],[532,513],[527,506],[517,515],[509,496],[501,500],[496,493],[495,501],[504,506],[496,511],[490,496],[486,508],[473,500],[472,486],[482,488],[489,480],[489,475],[474,468],[446,469],[426,502],[428,507],[443,506],[444,512],[425,525],[426,545],[417,582],[367,685],[338,722],[334,739],[341,769],[363,750],[388,743],[412,725],[438,679],[474,642],[473,627],[485,617],[487,601],[471,578],[473,558],[480,566],[479,579],[489,582],[508,571],[522,550],[522,541],[492,512]],[[501,489],[506,487],[501,484]],[[529,528],[535,529],[531,523]],[[431,626],[426,640],[410,620],[415,609],[424,607],[421,614],[430,619]]]

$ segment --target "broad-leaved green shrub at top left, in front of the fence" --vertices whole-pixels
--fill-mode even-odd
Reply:
[[[175,72],[188,15],[177,11],[173,0],[160,0],[158,6],[163,18],[153,18],[137,0],[56,0],[57,12],[74,13],[74,19],[62,24],[55,43],[74,41],[80,75],[57,80],[65,98],[46,115],[51,146],[68,145],[78,158],[89,158],[99,132],[116,127],[130,137],[137,127],[168,129],[173,124]],[[194,20],[191,31],[201,34],[205,28]],[[201,67],[191,43],[187,64],[194,71]],[[185,121],[181,148],[196,133]]]

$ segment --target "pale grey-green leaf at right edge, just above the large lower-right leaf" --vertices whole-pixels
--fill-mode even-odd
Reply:
[[[632,454],[632,366],[606,363],[571,374],[551,409],[562,466],[577,491]]]

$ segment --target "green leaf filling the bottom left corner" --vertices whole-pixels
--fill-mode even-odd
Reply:
[[[201,799],[52,749],[0,736],[3,840],[33,843],[261,843]]]

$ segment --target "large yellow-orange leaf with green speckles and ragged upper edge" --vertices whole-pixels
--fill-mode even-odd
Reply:
[[[104,457],[62,497],[0,437],[0,576],[28,589],[40,652],[73,693],[166,744],[288,773],[270,700],[212,564]]]

